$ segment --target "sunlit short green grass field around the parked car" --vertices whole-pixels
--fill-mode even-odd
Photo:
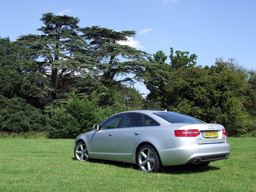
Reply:
[[[256,192],[256,138],[229,138],[230,157],[209,166],[146,173],[135,164],[74,160],[74,140],[0,139],[0,191]]]

